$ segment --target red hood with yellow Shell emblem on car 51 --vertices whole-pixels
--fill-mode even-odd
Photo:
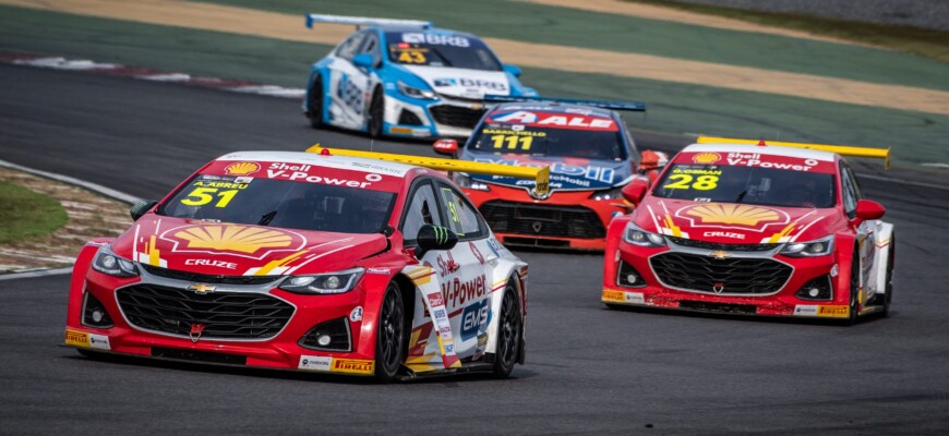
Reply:
[[[380,233],[353,234],[208,222],[148,214],[112,251],[143,265],[223,276],[336,271],[387,246]]]

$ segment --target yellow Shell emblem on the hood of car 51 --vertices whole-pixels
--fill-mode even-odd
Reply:
[[[292,235],[278,230],[247,226],[202,226],[175,233],[185,241],[188,250],[213,250],[255,253],[261,249],[286,249],[293,243]]]

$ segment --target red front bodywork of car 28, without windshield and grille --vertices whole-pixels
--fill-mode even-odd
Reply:
[[[714,150],[712,150],[714,152]],[[767,153],[766,149],[761,149]],[[664,172],[675,164],[701,162],[702,159],[721,159],[725,165],[728,153],[681,153]],[[606,304],[653,306],[748,315],[797,315],[846,318],[850,314],[849,298],[851,267],[856,243],[857,220],[849,219],[841,201],[841,177],[838,171],[839,157],[817,162],[813,159],[786,156],[759,157],[765,165],[788,164],[804,166],[807,170],[834,174],[836,205],[829,208],[756,206],[734,203],[707,203],[657,197],[646,193],[627,216],[613,220],[606,237],[603,290],[601,301]],[[798,162],[800,160],[800,162]],[[745,161],[733,165],[746,165]],[[750,165],[760,165],[760,162]],[[749,166],[750,166],[749,165]],[[767,167],[766,167],[767,168]],[[773,168],[773,167],[772,167]],[[780,167],[779,167],[780,168]],[[656,189],[656,187],[653,187]],[[651,190],[650,190],[651,191]],[[744,219],[742,218],[744,217]],[[647,232],[664,235],[666,241],[680,241],[675,245],[639,246],[624,240],[627,225],[633,222]],[[708,289],[682,289],[660,279],[656,266],[657,256],[675,250],[682,252],[683,244],[692,245],[690,255],[721,258],[745,257],[738,245],[773,243],[783,245],[788,241],[813,241],[833,235],[833,251],[816,257],[791,257],[778,253],[779,249],[762,251],[761,259],[769,265],[779,263],[793,268],[790,277],[780,289],[762,294],[736,294],[729,292],[726,280],[714,282]],[[761,245],[764,246],[764,245]],[[737,250],[730,250],[737,249]],[[752,253],[752,255],[756,255]],[[755,261],[757,262],[757,261]],[[773,263],[772,263],[773,262]],[[628,279],[620,283],[620,268],[625,263],[635,268],[641,281],[629,286]],[[689,269],[682,264],[681,272],[694,277],[705,270]],[[693,265],[693,264],[688,264]],[[624,269],[624,272],[628,271]],[[670,281],[672,272],[665,272]],[[802,287],[821,276],[830,277],[832,298],[814,301],[795,295]],[[628,275],[626,276],[628,277]],[[863,302],[861,302],[863,304]]]

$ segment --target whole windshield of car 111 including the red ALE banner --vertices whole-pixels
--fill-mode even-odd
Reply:
[[[503,113],[494,112],[481,124],[481,129],[468,142],[468,149],[596,160],[618,161],[626,158],[621,132],[612,119],[540,112],[509,118],[510,114]],[[517,117],[517,113],[514,112],[514,116]],[[525,123],[494,122],[498,119]],[[599,125],[597,122],[604,128],[591,128]]]

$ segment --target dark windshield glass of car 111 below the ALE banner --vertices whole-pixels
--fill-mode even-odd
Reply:
[[[468,143],[468,149],[529,156],[577,157],[596,160],[626,158],[620,132],[524,128],[485,123]]]

